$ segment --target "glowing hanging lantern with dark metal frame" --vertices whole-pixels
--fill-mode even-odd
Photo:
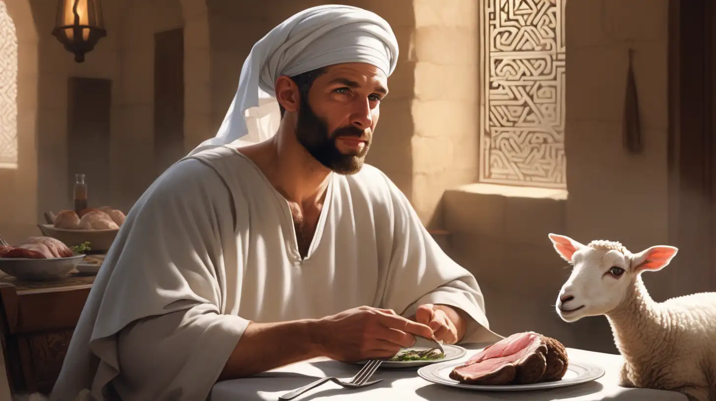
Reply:
[[[74,61],[84,62],[84,54],[107,36],[100,0],[59,0],[52,34],[68,52],[74,53]]]

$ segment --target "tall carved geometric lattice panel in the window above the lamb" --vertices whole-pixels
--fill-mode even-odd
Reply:
[[[566,0],[485,0],[480,181],[566,188]]]

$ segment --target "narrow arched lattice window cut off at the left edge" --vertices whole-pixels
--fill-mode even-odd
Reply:
[[[17,34],[1,0],[0,168],[17,168]]]

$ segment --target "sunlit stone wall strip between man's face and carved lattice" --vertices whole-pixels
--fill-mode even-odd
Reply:
[[[412,100],[412,204],[424,223],[442,226],[448,188],[478,178],[478,2],[415,0]]]

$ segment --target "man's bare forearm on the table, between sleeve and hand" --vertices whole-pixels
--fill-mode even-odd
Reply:
[[[248,324],[231,352],[219,380],[255,375],[286,364],[319,357],[314,339],[316,320]]]

